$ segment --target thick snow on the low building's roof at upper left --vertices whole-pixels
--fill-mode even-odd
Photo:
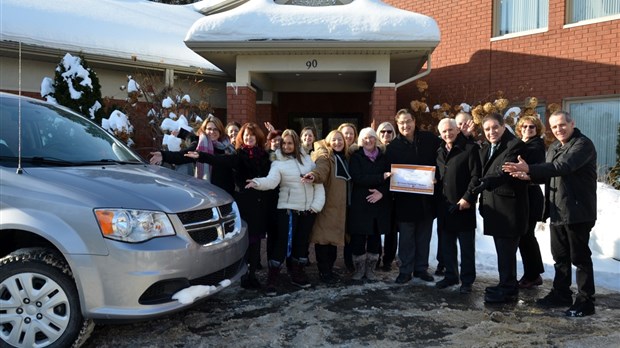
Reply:
[[[191,5],[147,0],[2,0],[0,39],[219,71],[183,43],[201,18]]]

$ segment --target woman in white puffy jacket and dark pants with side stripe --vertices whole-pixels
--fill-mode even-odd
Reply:
[[[309,237],[316,213],[325,204],[322,184],[313,184],[304,176],[314,168],[310,156],[301,151],[299,136],[292,129],[282,133],[282,146],[276,151],[269,174],[248,180],[246,188],[270,190],[280,185],[278,197],[278,230],[267,238],[269,275],[267,295],[277,294],[280,268],[291,258],[291,283],[301,288],[310,286],[304,267],[308,263]]]

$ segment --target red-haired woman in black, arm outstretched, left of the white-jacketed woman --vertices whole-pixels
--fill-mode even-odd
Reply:
[[[256,269],[260,263],[260,243],[268,232],[268,216],[276,214],[276,201],[273,190],[259,191],[246,189],[247,180],[269,174],[271,160],[265,150],[265,135],[255,123],[246,123],[239,130],[235,141],[237,151],[231,155],[218,156],[206,152],[188,152],[187,156],[200,163],[208,163],[213,168],[228,168],[233,171],[235,201],[241,217],[248,224],[249,246],[246,259],[248,274],[241,278],[241,286],[246,289],[260,289],[256,279]]]

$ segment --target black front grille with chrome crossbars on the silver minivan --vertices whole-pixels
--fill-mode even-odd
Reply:
[[[219,209],[219,213],[216,209]],[[218,208],[178,213],[190,237],[200,245],[222,240],[235,231],[235,214],[232,203]]]

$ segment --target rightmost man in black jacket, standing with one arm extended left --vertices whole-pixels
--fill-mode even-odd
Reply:
[[[570,306],[567,316],[594,314],[594,270],[588,243],[596,222],[596,149],[565,111],[554,112],[549,125],[557,141],[547,151],[547,162],[506,163],[504,170],[523,180],[545,182],[545,219],[551,220],[551,254],[555,278],[541,306]],[[571,263],[577,268],[577,297],[573,302]]]

